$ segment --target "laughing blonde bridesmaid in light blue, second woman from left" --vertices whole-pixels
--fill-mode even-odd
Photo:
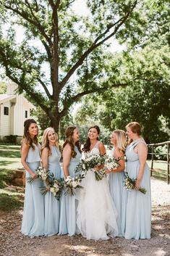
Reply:
[[[50,170],[54,174],[54,178],[61,177],[61,168],[59,160],[61,153],[59,152],[58,137],[54,128],[46,128],[42,138],[42,163],[43,168]],[[48,182],[46,183],[47,190]],[[50,191],[45,195],[45,236],[53,236],[59,233],[59,207],[60,203]]]

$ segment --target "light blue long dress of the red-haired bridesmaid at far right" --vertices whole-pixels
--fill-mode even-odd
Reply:
[[[145,141],[143,139],[132,141],[126,149],[126,171],[129,178],[137,178],[139,173],[139,157],[138,154],[134,152],[134,148],[138,143],[145,144]],[[122,234],[124,234],[125,239],[150,239],[150,171],[147,163],[145,164],[145,170],[140,186],[147,190],[146,194],[143,194],[136,189],[123,190]]]

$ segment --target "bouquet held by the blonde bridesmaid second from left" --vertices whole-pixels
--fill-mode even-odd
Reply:
[[[49,191],[54,194],[54,197],[56,197],[57,200],[61,197],[61,191],[64,188],[64,178],[55,178],[52,183],[50,183]],[[41,194],[45,195],[48,189],[46,186],[43,186],[40,188]]]

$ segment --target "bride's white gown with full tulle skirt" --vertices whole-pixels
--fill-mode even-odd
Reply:
[[[99,141],[95,144],[90,154],[100,154]],[[116,236],[116,208],[111,199],[108,178],[101,181],[95,180],[93,170],[88,170],[82,180],[80,197],[77,208],[77,227],[82,236],[87,239],[109,239]]]

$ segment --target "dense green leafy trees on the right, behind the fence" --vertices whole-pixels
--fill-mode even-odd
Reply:
[[[149,143],[165,141],[170,136],[170,5],[166,0],[145,3],[150,9],[145,9],[140,22],[136,17],[119,32],[122,43],[128,38],[127,51],[112,57],[108,64],[110,73],[116,70],[116,76],[131,86],[102,94],[97,104],[103,104],[103,110],[95,118],[109,130],[124,129],[127,123],[137,120],[143,124],[143,136]],[[94,104],[94,99],[90,96],[86,101]],[[86,114],[88,119],[85,111],[82,107],[81,115]],[[91,115],[96,116],[96,112]]]

